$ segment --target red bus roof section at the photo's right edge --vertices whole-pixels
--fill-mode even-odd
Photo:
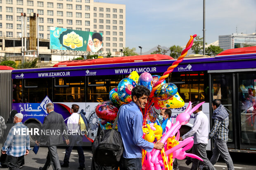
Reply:
[[[237,48],[237,49],[227,49],[225,51],[222,51],[217,56],[226,56],[226,55],[235,55],[235,54],[250,54],[250,53],[256,53],[256,46],[243,47],[243,48]]]

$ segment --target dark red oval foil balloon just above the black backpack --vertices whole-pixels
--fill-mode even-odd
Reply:
[[[112,121],[116,119],[118,109],[112,102],[101,102],[96,106],[97,116],[104,121]]]

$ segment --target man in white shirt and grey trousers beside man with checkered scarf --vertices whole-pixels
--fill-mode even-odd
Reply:
[[[192,103],[192,108],[198,105],[200,102],[195,101]],[[202,106],[193,112],[195,114],[194,125],[191,130],[180,137],[180,140],[184,140],[187,137],[194,136],[194,145],[192,147],[192,153],[201,157],[204,161],[200,161],[201,165],[204,165],[204,168],[207,170],[216,170],[206,154],[206,146],[208,144],[208,134],[209,134],[209,120],[207,116],[202,112]],[[199,165],[198,159],[189,158],[186,161],[186,164],[189,165],[192,162],[191,170],[197,170]]]

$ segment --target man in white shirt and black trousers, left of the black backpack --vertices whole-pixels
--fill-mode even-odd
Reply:
[[[68,134],[69,134],[69,142],[70,145],[66,147],[66,153],[63,160],[63,164],[61,167],[69,167],[69,157],[71,154],[71,151],[74,146],[76,146],[77,153],[78,153],[78,162],[79,162],[79,168],[80,170],[85,170],[85,156],[83,154],[83,136],[81,135],[80,125],[79,125],[79,119],[80,115],[77,113],[79,110],[79,106],[73,104],[70,110],[71,116],[69,116],[69,119],[67,121],[68,126]]]

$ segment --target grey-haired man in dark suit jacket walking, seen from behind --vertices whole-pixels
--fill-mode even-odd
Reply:
[[[65,133],[67,130],[66,124],[62,115],[54,112],[53,103],[47,103],[46,110],[48,115],[45,116],[45,119],[43,121],[43,127],[41,130],[41,132],[45,132],[44,134],[46,134],[46,137],[43,140],[43,135],[40,135],[38,140],[36,140],[36,144],[39,145],[39,143],[41,142],[41,144],[47,145],[48,154],[45,165],[43,166],[43,168],[40,167],[39,170],[47,170],[50,167],[51,163],[53,170],[61,170],[59,156],[57,153],[57,145],[63,144],[62,134],[64,136],[64,139],[66,140],[66,144],[69,144],[68,135]],[[47,130],[55,133],[47,133]]]

